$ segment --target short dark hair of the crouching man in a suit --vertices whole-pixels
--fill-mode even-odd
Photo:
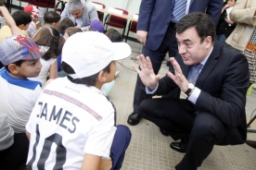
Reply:
[[[176,32],[182,33],[193,27],[197,30],[201,42],[208,36],[211,36],[211,42],[214,42],[215,25],[207,14],[195,12],[184,16],[176,24]]]

